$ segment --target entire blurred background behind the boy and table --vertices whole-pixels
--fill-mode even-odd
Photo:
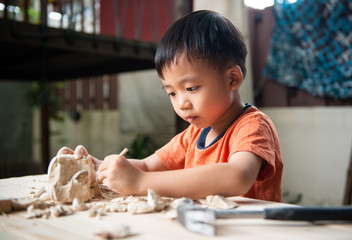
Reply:
[[[284,201],[351,204],[350,0],[0,0],[0,178],[46,173],[62,146],[144,158],[187,127],[153,58],[200,9],[246,37],[241,92],[278,130]]]

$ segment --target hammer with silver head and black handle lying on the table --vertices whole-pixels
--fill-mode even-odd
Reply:
[[[218,210],[195,206],[184,199],[177,207],[177,220],[187,230],[215,236],[217,218],[264,218],[288,221],[352,221],[352,207],[270,207],[259,210]]]

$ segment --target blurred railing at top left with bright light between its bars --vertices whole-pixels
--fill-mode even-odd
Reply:
[[[0,17],[79,32],[98,33],[99,1],[2,0]]]

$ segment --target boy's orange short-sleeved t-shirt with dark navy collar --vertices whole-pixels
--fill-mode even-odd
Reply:
[[[202,130],[190,125],[157,150],[157,156],[168,169],[175,170],[228,162],[236,152],[252,152],[261,157],[263,163],[252,188],[243,196],[282,201],[280,143],[275,126],[266,114],[254,106],[248,108],[220,138],[206,147],[197,145]]]

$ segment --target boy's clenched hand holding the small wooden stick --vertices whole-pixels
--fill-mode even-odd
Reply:
[[[97,179],[111,190],[122,194],[140,195],[140,183],[143,171],[135,167],[125,157],[120,155],[109,155],[99,166]]]

